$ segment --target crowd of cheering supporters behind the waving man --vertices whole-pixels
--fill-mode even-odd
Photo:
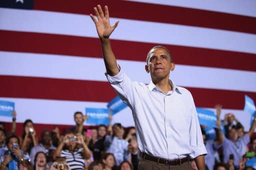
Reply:
[[[221,106],[216,105],[214,139],[208,139],[201,126],[207,155],[207,170],[253,170],[245,162],[255,158],[256,119],[247,133],[231,113],[220,120]],[[22,136],[16,136],[16,112],[12,127],[5,132],[0,124],[0,170],[137,170],[140,153],[134,127],[110,124],[84,128],[88,118],[81,112],[73,115],[75,126],[60,134],[57,126],[36,134],[31,120],[23,123]],[[197,169],[190,160],[193,169]]]

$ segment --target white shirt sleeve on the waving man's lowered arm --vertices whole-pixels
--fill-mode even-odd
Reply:
[[[192,152],[189,154],[189,156],[190,158],[194,159],[200,155],[206,155],[207,151],[203,144],[201,128],[197,118],[197,113],[195,110],[194,101],[191,94],[188,97],[188,102],[190,104],[192,114],[189,129],[190,147],[192,149]]]

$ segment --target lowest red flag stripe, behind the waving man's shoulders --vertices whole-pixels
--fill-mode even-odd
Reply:
[[[19,76],[0,76],[1,97],[55,99],[70,101],[109,102],[116,96],[108,82],[51,79]],[[218,89],[187,88],[193,95],[196,107],[244,107],[244,95],[256,100],[256,93]]]

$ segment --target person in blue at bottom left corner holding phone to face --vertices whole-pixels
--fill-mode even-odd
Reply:
[[[18,162],[29,160],[29,156],[24,155],[23,151],[19,149],[19,139],[12,135],[6,140],[7,151],[0,157],[0,170],[18,170]]]

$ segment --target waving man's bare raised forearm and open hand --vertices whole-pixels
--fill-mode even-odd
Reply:
[[[109,36],[113,32],[113,30],[116,28],[119,21],[116,21],[113,26],[109,23],[109,12],[107,6],[105,8],[105,15],[101,9],[100,5],[97,5],[97,7],[94,7],[94,12],[97,17],[97,19],[90,14],[91,19],[95,23],[96,30],[98,33],[98,37],[101,42],[101,48],[103,52],[103,59],[106,67],[106,72],[110,76],[115,76],[118,74],[119,69],[117,67],[115,56],[112,52]]]

